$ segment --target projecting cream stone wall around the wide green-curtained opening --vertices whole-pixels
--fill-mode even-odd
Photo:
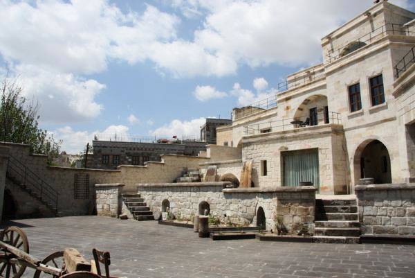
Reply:
[[[252,160],[255,186],[284,186],[284,152],[317,149],[320,193],[342,193],[347,174],[342,139],[342,126],[335,124],[259,134],[243,139],[243,160]],[[267,161],[267,175],[261,175],[261,160]]]

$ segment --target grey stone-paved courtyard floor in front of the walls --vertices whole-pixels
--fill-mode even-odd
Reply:
[[[136,277],[415,277],[415,246],[212,241],[192,229],[99,216],[14,220],[30,254],[111,252],[111,275]],[[32,277],[26,270],[24,277]]]

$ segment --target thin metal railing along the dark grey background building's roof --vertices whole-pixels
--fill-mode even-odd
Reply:
[[[131,134],[106,134],[94,135],[94,141],[114,141],[114,142],[135,142],[135,143],[170,143],[185,144],[188,141],[203,142],[200,135],[183,135],[173,138],[172,136],[140,136]]]

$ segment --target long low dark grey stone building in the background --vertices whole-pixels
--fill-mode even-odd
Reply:
[[[115,169],[119,165],[160,162],[161,155],[198,155],[206,150],[203,141],[159,139],[155,143],[93,140],[88,165],[95,169]]]

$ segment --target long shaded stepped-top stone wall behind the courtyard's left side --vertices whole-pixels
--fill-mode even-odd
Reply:
[[[99,170],[86,168],[69,168],[48,166],[47,157],[44,155],[32,155],[29,146],[24,144],[0,143],[0,153],[8,152],[8,155],[19,160],[33,171],[39,177],[42,177],[46,183],[56,189],[59,194],[58,214],[59,216],[85,215],[90,214],[95,206],[95,197],[93,196],[93,184],[108,184],[122,182],[125,184],[124,191],[136,191],[137,182],[173,182],[180,176],[183,167],[199,168],[199,163],[210,161],[209,158],[190,157],[185,155],[164,155],[162,162],[148,162],[145,166],[118,166],[117,170]],[[0,179],[6,180],[6,173],[2,173]],[[75,174],[89,174],[89,186],[86,198],[75,198],[74,182]],[[10,184],[10,186],[18,186]],[[29,205],[28,200],[13,196],[17,207],[21,207],[24,214],[19,214],[16,218],[26,217],[28,215],[39,215],[37,202],[34,198]],[[1,202],[3,199],[1,199]],[[2,204],[0,204],[2,205]],[[30,209],[32,207],[33,209]],[[46,216],[46,215],[45,215]]]

